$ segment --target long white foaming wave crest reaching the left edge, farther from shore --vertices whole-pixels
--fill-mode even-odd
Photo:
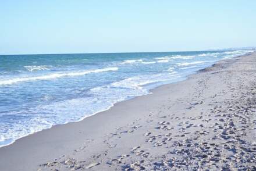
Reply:
[[[118,67],[107,67],[104,69],[86,70],[86,71],[80,71],[80,72],[54,73],[54,74],[48,74],[45,76],[37,76],[37,77],[21,77],[21,78],[15,78],[10,80],[0,80],[0,85],[14,84],[18,82],[34,81],[34,80],[51,80],[51,79],[57,79],[59,77],[67,77],[67,76],[83,76],[85,74],[90,74],[90,73],[100,73],[100,72],[108,72],[108,71],[116,71],[116,70],[118,70]]]

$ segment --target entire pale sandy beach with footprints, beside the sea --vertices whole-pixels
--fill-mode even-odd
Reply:
[[[0,170],[256,170],[256,53],[0,148]]]

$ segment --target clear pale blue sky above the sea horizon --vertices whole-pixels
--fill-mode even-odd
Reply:
[[[0,54],[249,47],[255,21],[255,0],[0,0]]]

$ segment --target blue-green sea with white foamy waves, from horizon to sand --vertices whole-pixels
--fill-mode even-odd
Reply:
[[[0,56],[0,147],[251,51]]]

